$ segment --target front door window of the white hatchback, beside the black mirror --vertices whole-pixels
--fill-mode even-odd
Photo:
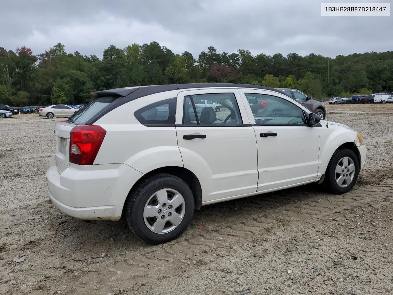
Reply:
[[[258,125],[305,125],[303,110],[284,98],[267,94],[246,93],[248,98],[259,101],[258,109],[253,109]]]

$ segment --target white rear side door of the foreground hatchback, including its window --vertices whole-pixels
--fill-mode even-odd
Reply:
[[[204,100],[226,108],[198,110]],[[202,186],[203,202],[257,190],[257,145],[237,89],[186,90],[178,94],[176,133],[184,167]],[[196,114],[195,114],[196,113]]]

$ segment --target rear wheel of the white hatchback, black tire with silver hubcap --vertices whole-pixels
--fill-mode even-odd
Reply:
[[[157,193],[163,190],[166,190],[166,192],[161,194],[160,199],[162,201],[160,201]],[[176,200],[180,200],[183,203],[177,208],[170,208],[173,199],[169,199],[169,196],[177,193],[183,199],[178,199],[177,197]],[[180,201],[177,203],[180,203]],[[195,201],[191,189],[182,179],[171,174],[160,173],[147,177],[147,179],[138,184],[130,192],[125,206],[125,220],[131,231],[142,241],[157,245],[172,241],[184,233],[193,218]],[[151,214],[157,214],[156,216],[147,216],[145,218],[145,215],[149,214],[149,210],[145,214],[145,209],[148,206],[149,208],[156,207],[151,210]],[[179,208],[180,210],[176,210]],[[167,221],[165,223],[157,223],[163,219],[162,216]],[[171,218],[175,221],[180,220],[180,223],[177,226],[174,225],[171,223]],[[163,225],[163,229],[158,229],[156,230],[157,232],[154,232],[154,225]]]

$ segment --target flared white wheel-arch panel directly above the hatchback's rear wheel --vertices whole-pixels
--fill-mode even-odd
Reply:
[[[183,160],[177,146],[159,146],[144,149],[132,155],[124,161],[124,164],[146,174],[167,166],[183,167]]]

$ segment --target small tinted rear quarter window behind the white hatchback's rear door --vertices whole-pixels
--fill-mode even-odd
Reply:
[[[173,125],[176,114],[176,98],[147,105],[134,112],[135,118],[143,125]]]

